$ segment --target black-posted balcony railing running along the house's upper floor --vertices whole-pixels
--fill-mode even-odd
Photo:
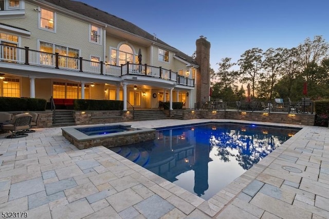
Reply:
[[[29,47],[20,48],[4,44],[0,44],[0,51],[0,61],[2,62],[51,67],[113,77],[140,75],[170,80],[180,85],[194,87],[194,79],[179,76],[177,72],[147,64],[138,65],[127,62],[124,65],[116,66],[104,63],[103,61],[94,62],[81,57],[62,56],[58,52],[48,53],[32,50]]]

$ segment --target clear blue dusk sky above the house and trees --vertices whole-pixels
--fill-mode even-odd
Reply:
[[[210,64],[237,62],[255,47],[292,48],[322,35],[329,42],[327,0],[76,0],[116,15],[191,56],[203,35]]]

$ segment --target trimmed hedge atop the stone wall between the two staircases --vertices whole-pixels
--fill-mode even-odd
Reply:
[[[122,100],[74,100],[74,109],[76,111],[106,111],[122,110]]]

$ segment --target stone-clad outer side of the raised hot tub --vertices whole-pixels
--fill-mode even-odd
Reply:
[[[79,141],[66,132],[62,131],[62,135],[74,144],[78,149],[86,149],[103,145],[106,148],[114,148],[120,145],[134,144],[139,142],[151,141],[155,139],[155,130],[148,132],[132,133],[117,135],[112,137],[95,138],[90,140]]]

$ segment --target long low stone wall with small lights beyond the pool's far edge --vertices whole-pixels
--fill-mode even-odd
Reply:
[[[314,125],[315,114],[287,114],[264,112],[234,112],[234,111],[205,111],[184,110],[182,118],[185,119],[232,119],[259,122],[275,122],[298,125]],[[174,112],[171,113],[174,115]]]

